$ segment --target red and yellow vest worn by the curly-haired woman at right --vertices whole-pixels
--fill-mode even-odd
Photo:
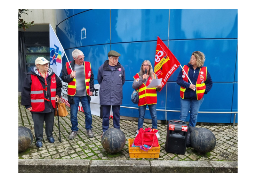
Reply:
[[[189,67],[187,65],[184,65],[183,69],[186,72],[186,74],[189,73]],[[185,76],[183,78],[183,80],[185,82],[188,82],[187,76],[185,75],[184,71],[182,71],[183,75]],[[203,95],[205,94],[206,75],[207,75],[207,67],[204,66],[204,67],[200,68],[199,75],[198,75],[198,78],[197,78],[197,83],[195,85],[196,86],[196,92],[197,92],[197,100],[201,100],[203,98]],[[186,88],[181,86],[179,94],[180,94],[182,99],[184,99],[184,92],[185,92],[185,90],[186,90]]]

